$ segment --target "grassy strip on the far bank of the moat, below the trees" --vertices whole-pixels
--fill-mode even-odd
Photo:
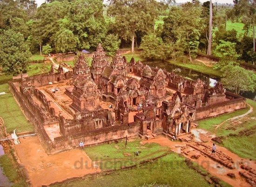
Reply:
[[[189,60],[187,60],[186,64],[184,64],[182,61],[179,60],[167,60],[170,64],[174,64],[180,67],[185,67],[185,68],[189,68],[191,70],[200,72],[200,73],[204,73],[204,74],[209,74],[212,75],[214,77],[221,77],[222,73],[221,71],[218,70],[214,70],[213,67],[209,67],[206,66],[204,64],[202,64],[201,62],[189,62]]]

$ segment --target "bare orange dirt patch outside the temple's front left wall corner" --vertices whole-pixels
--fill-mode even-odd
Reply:
[[[79,149],[47,155],[37,136],[20,138],[20,142],[15,145],[15,150],[33,187],[100,172],[88,155]]]

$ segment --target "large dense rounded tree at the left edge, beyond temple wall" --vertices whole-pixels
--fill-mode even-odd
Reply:
[[[9,29],[0,35],[0,65],[8,74],[26,71],[31,53],[20,32]]]

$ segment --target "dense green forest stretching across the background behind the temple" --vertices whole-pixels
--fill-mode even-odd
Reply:
[[[34,0],[0,0],[0,65],[15,73],[26,70],[31,54],[94,50],[101,43],[110,56],[128,47],[142,49],[146,59],[187,56],[192,61],[198,52],[213,54],[222,59],[216,68],[224,72],[237,60],[255,62],[255,20],[253,0],[234,0],[232,6],[199,0],[181,5],[47,0],[40,7]],[[228,21],[243,23],[243,32],[228,30]]]

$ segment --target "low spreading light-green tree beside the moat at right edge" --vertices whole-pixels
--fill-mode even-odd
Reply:
[[[221,81],[226,88],[235,90],[236,94],[256,89],[256,74],[237,65],[229,65]]]

